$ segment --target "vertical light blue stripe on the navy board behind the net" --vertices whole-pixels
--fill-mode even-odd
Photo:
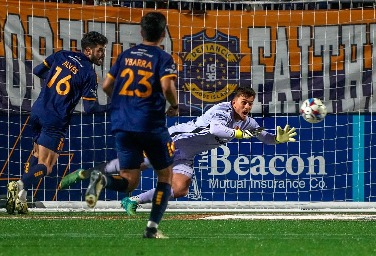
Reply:
[[[364,115],[353,115],[353,201],[364,202]]]

